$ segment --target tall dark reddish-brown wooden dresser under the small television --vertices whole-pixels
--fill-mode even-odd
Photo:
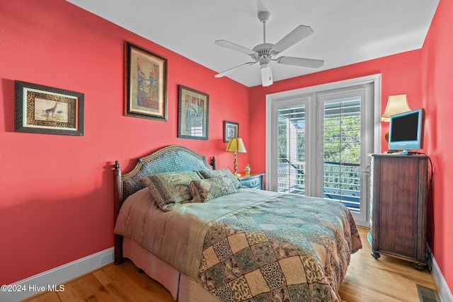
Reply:
[[[372,256],[427,262],[428,156],[372,154]]]

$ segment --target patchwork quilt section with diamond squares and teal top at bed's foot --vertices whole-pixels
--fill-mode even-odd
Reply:
[[[215,221],[198,282],[222,301],[341,301],[361,247],[343,204],[281,194]]]

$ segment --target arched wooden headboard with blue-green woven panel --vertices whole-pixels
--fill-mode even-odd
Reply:
[[[139,179],[143,176],[166,172],[214,170],[215,158],[212,158],[210,165],[205,156],[201,156],[184,146],[173,145],[138,158],[134,168],[123,175],[118,161],[115,161],[114,168],[113,196],[115,199],[114,221],[116,222],[125,199],[145,187],[142,182],[139,182]],[[115,235],[115,264],[119,264],[121,261],[122,236]]]

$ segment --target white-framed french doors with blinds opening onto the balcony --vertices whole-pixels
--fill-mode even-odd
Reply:
[[[268,98],[267,187],[342,202],[367,225],[375,88],[356,83]]]

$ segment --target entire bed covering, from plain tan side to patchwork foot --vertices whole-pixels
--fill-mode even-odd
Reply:
[[[142,189],[122,205],[115,233],[232,302],[340,301],[362,247],[343,204],[253,189],[171,211]]]

